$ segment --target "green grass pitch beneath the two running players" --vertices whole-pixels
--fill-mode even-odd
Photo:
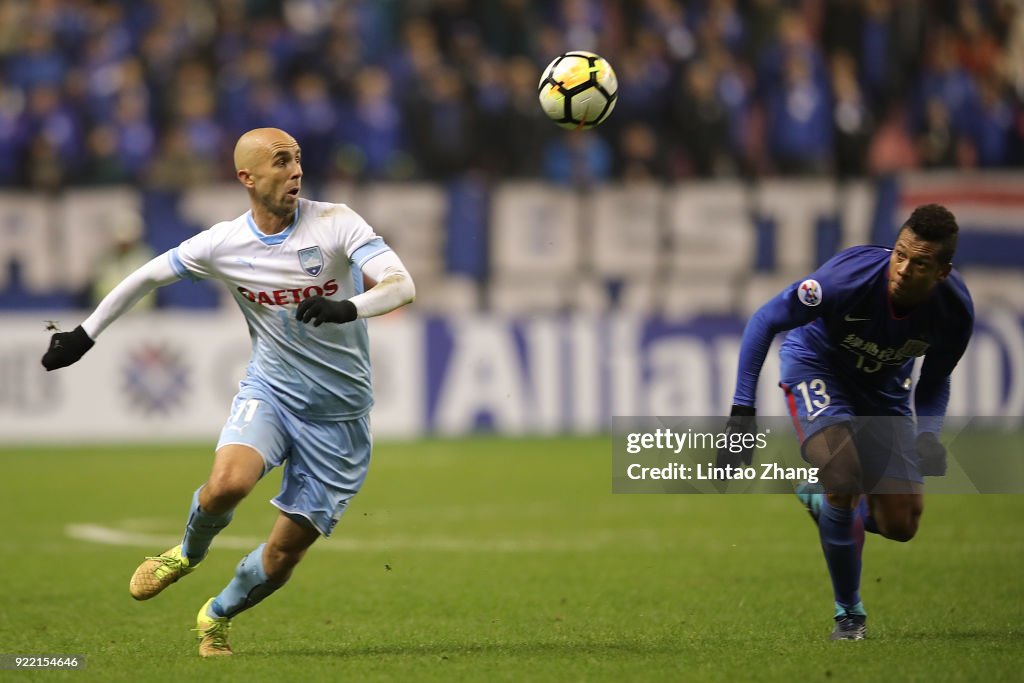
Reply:
[[[831,643],[824,561],[794,497],[614,496],[605,438],[379,443],[334,538],[234,620],[233,657],[201,660],[196,611],[269,530],[280,476],[196,573],[142,603],[128,579],[180,537],[210,461],[208,445],[0,451],[0,653],[87,657],[0,680],[1022,675],[1024,497],[933,496],[911,543],[868,537],[869,640]]]

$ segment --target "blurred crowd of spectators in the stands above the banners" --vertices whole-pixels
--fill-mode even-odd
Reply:
[[[565,133],[567,49],[618,101]],[[232,177],[589,182],[1024,166],[1024,0],[0,0],[0,186]]]

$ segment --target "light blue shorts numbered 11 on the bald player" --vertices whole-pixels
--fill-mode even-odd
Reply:
[[[281,493],[270,501],[331,536],[348,501],[362,486],[373,439],[370,416],[354,420],[304,420],[282,408],[266,387],[245,380],[217,449],[241,443],[263,457],[263,474],[285,466]]]

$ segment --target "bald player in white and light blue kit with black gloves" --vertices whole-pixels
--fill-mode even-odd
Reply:
[[[416,294],[398,256],[358,214],[299,198],[302,152],[291,135],[247,132],[234,167],[250,210],[128,275],[74,331],[54,334],[42,360],[48,371],[76,362],[145,294],[181,279],[223,282],[242,309],[252,355],[210,476],[193,495],[181,545],[146,557],[129,585],[148,600],[198,569],[236,506],[284,465],[269,537],[199,611],[202,656],[231,654],[230,620],[285,585],[362,485],[373,405],[365,318]],[[364,275],[374,283],[366,291]]]

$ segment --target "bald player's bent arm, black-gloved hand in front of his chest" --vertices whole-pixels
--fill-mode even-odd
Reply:
[[[295,317],[317,328],[324,323],[351,323],[356,317],[382,315],[416,298],[413,278],[394,252],[385,251],[374,256],[364,263],[362,271],[377,284],[343,301],[309,297],[299,304]]]

